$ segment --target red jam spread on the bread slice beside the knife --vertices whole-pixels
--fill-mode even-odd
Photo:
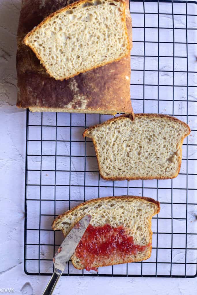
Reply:
[[[92,226],[89,224],[75,254],[87,271],[97,271],[93,265],[98,259],[103,260],[110,256],[123,258],[126,254],[136,255],[137,252],[144,251],[147,246],[135,245],[133,237],[128,236],[122,226],[112,227],[109,224]]]

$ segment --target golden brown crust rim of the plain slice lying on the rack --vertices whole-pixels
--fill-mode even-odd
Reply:
[[[181,150],[181,147],[182,147],[182,144],[183,144],[183,140],[185,139],[185,137],[187,137],[189,134],[190,134],[190,132],[191,132],[191,130],[190,130],[190,127],[188,126],[188,124],[186,124],[185,122],[183,122],[183,121],[180,121],[179,119],[177,119],[177,118],[175,118],[175,117],[172,117],[172,116],[168,116],[168,115],[164,115],[164,114],[145,114],[145,113],[141,113],[141,114],[135,114],[134,115],[135,116],[135,118],[137,118],[137,117],[160,117],[160,118],[166,118],[166,119],[168,119],[168,120],[172,120],[172,121],[178,121],[180,124],[182,124],[183,126],[185,126],[187,129],[188,129],[188,133],[186,133],[184,136],[183,136],[183,138],[182,138],[182,140],[180,141],[180,157],[179,157],[179,160],[178,160],[178,169],[177,169],[177,171],[176,171],[176,173],[174,174],[174,175],[172,175],[172,176],[170,176],[170,177],[162,177],[162,176],[158,176],[157,178],[154,178],[154,177],[143,177],[143,180],[150,180],[150,179],[172,179],[172,178],[175,178],[175,177],[177,177],[178,176],[178,174],[179,174],[179,172],[180,172],[180,167],[181,167],[181,161],[182,161],[182,150]],[[105,121],[105,122],[103,122],[102,124],[97,124],[97,125],[94,125],[94,126],[92,126],[92,127],[90,127],[90,128],[88,128],[88,129],[86,129],[84,132],[83,132],[83,137],[89,137],[88,135],[87,135],[87,132],[88,131],[90,131],[91,129],[93,129],[93,128],[95,128],[95,127],[99,127],[99,126],[101,126],[101,125],[106,125],[106,124],[108,124],[109,122],[112,122],[112,121],[116,121],[116,120],[120,120],[120,119],[122,119],[123,117],[125,117],[125,118],[129,118],[129,115],[127,115],[127,114],[123,114],[123,115],[121,115],[121,116],[119,116],[119,117],[115,117],[115,118],[112,118],[112,119],[109,119],[109,120],[107,120],[107,121]],[[92,138],[92,137],[89,137],[89,138]],[[125,177],[105,177],[105,176],[103,176],[102,175],[102,173],[101,173],[101,168],[100,168],[100,163],[99,163],[99,156],[98,156],[98,150],[97,150],[97,143],[96,143],[96,141],[94,140],[94,138],[92,138],[92,142],[93,142],[93,144],[94,144],[94,148],[95,148],[95,153],[96,153],[96,157],[97,157],[97,163],[98,163],[98,168],[99,168],[99,173],[100,173],[100,176],[103,178],[103,179],[105,179],[105,180],[113,180],[113,181],[115,181],[115,180],[139,180],[139,179],[142,179],[140,176],[139,177],[127,177],[127,178],[125,178]]]

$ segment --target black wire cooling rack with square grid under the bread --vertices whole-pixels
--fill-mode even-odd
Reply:
[[[133,49],[131,99],[134,112],[174,115],[187,122],[177,178],[104,181],[98,173],[85,127],[110,116],[31,113],[27,110],[25,183],[25,273],[50,275],[61,232],[53,219],[79,203],[101,196],[137,195],[160,201],[152,219],[151,258],[99,268],[95,276],[195,277],[197,275],[197,97],[196,2],[131,1]],[[172,135],[173,136],[173,135]],[[66,276],[94,276],[76,270]]]

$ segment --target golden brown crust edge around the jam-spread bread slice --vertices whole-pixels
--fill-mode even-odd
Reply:
[[[159,204],[158,201],[156,201],[156,200],[154,200],[154,199],[152,199],[152,198],[148,198],[148,197],[140,197],[140,196],[127,196],[127,195],[124,195],[124,196],[102,197],[102,198],[97,198],[97,199],[92,199],[92,200],[89,200],[89,201],[85,201],[84,203],[79,204],[78,206],[76,206],[76,207],[74,207],[73,209],[71,209],[71,210],[65,212],[64,214],[59,215],[59,216],[53,221],[52,229],[53,229],[53,230],[58,230],[59,228],[56,227],[56,224],[59,222],[59,220],[60,220],[62,217],[64,217],[64,216],[70,214],[70,213],[73,212],[74,210],[79,209],[80,207],[86,206],[87,204],[90,204],[90,203],[95,204],[95,203],[97,203],[97,202],[101,202],[102,200],[109,200],[109,199],[110,199],[110,200],[117,200],[117,199],[139,199],[139,200],[144,200],[144,201],[146,201],[146,202],[151,202],[151,203],[156,204],[156,205],[157,205],[157,211],[156,211],[156,212],[150,217],[150,219],[149,219],[149,224],[148,224],[148,227],[149,227],[149,241],[152,241],[151,219],[152,219],[152,217],[153,217],[155,214],[158,214],[158,213],[159,213],[159,211],[160,211],[160,204]],[[82,218],[82,217],[83,217],[83,216],[81,216],[80,218]],[[79,221],[79,220],[76,220],[76,223],[77,223],[78,221]],[[146,259],[150,258],[150,256],[151,256],[151,251],[152,251],[152,243],[151,243],[151,245],[150,245],[149,248],[148,248],[148,251],[147,251],[147,253],[146,253],[146,256],[143,257],[143,260],[146,260]],[[77,268],[77,269],[83,269],[83,268],[79,268],[79,267],[76,265],[73,256],[71,257],[71,260],[72,260],[72,263],[73,263],[73,265],[74,265],[75,268]],[[126,263],[137,262],[137,261],[141,261],[141,260],[139,260],[139,259],[137,259],[137,258],[136,258],[136,259],[132,259],[132,260],[126,260]],[[125,263],[125,262],[122,262],[122,263]],[[113,263],[113,265],[115,265],[115,264],[119,264],[119,263]],[[97,267],[109,266],[109,265],[111,265],[111,264],[110,264],[110,263],[103,263],[103,264],[98,265]]]

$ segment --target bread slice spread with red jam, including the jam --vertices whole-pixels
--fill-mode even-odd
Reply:
[[[148,259],[152,250],[151,218],[159,213],[159,210],[159,202],[146,197],[98,198],[86,201],[58,216],[52,228],[61,230],[66,236],[79,219],[87,214],[92,216],[90,230],[86,230],[71,257],[75,268],[90,270],[100,266]],[[106,228],[110,229],[107,233]],[[134,243],[132,247],[132,243],[128,243],[129,246],[127,244],[126,252],[118,248],[118,245],[124,243],[122,237]],[[110,248],[112,243],[115,245]],[[107,252],[101,251],[103,248]]]

